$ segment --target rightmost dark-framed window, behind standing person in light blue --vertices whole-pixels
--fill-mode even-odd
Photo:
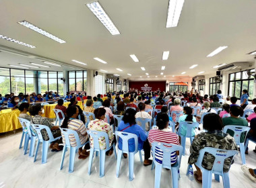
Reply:
[[[250,73],[255,73],[254,69],[249,70]],[[253,84],[254,84],[254,77],[248,77],[247,71],[241,71],[238,73],[231,73],[229,74],[228,79],[228,95],[230,97],[237,97],[238,99],[241,98],[242,91],[247,89],[249,93],[249,100],[253,99]]]

